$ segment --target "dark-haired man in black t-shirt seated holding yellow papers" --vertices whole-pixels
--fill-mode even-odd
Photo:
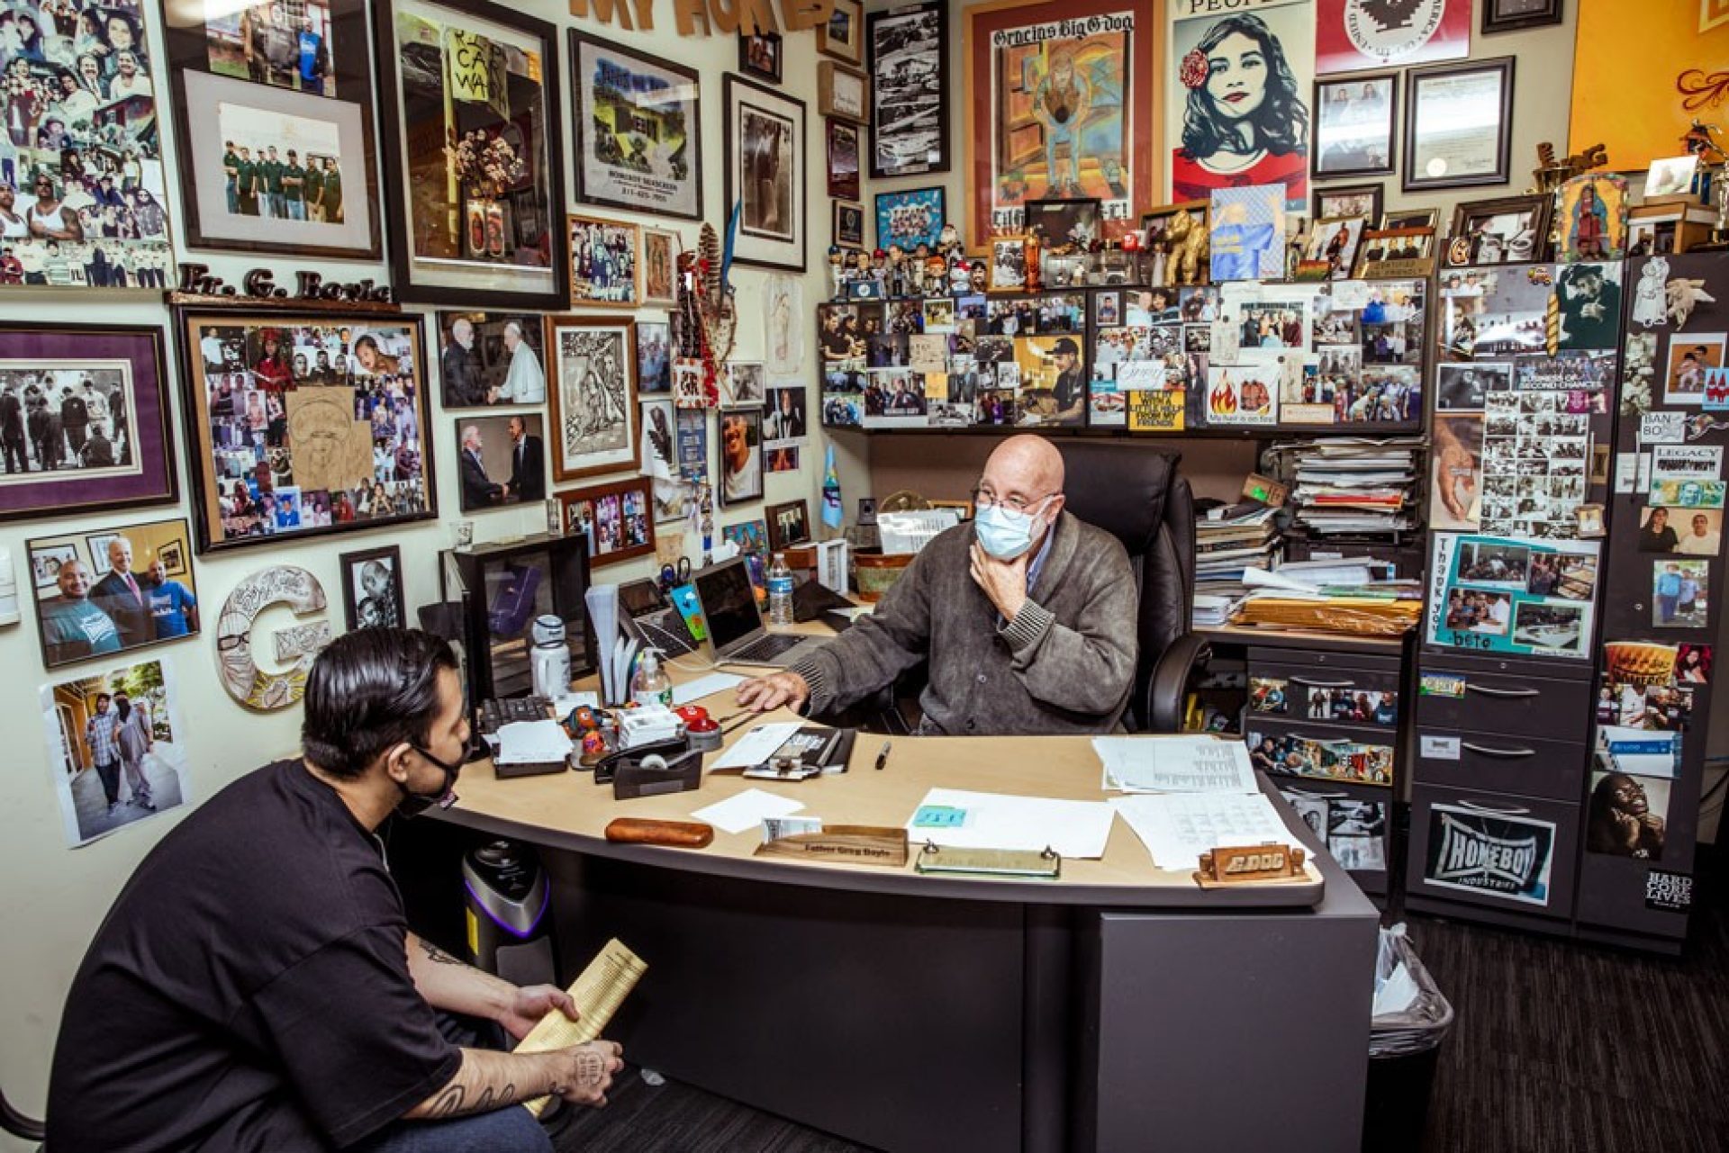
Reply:
[[[603,1105],[619,1046],[458,1048],[436,1010],[515,1037],[550,1010],[420,940],[379,825],[453,800],[456,660],[418,631],[337,638],[306,683],[301,761],[223,788],[138,866],[73,978],[50,1150],[550,1153],[519,1101]],[[451,1018],[443,1023],[448,1029]]]

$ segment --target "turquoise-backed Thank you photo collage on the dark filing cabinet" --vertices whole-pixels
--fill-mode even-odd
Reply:
[[[1425,640],[1442,648],[1589,659],[1596,541],[1437,532]]]

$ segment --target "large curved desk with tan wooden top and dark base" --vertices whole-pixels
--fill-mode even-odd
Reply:
[[[884,825],[937,783],[1101,797],[1081,738],[897,738],[878,773],[880,743],[861,735],[845,774],[626,802],[470,766],[443,821],[541,847],[560,977],[626,940],[648,975],[609,1032],[712,1092],[884,1150],[1357,1146],[1376,914],[1326,857],[1307,885],[1202,892],[1122,821],[1062,882],[759,859],[754,830],[699,852],[602,838],[743,788]]]

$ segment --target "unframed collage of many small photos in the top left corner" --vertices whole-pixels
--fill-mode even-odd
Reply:
[[[0,287],[168,289],[166,69],[145,9],[0,2]]]

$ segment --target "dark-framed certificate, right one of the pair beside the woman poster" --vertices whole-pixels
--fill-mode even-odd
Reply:
[[[1513,57],[1414,67],[1404,190],[1504,185],[1513,142]]]

